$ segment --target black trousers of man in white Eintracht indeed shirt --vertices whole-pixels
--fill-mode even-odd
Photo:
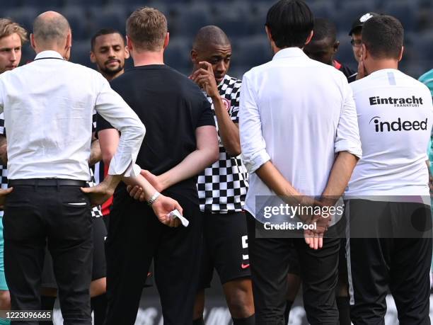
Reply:
[[[369,224],[369,233],[378,234],[350,238],[347,245],[352,323],[385,324],[386,295],[391,291],[401,325],[430,324],[432,238],[431,234],[430,238],[414,236],[421,224],[431,229],[429,207],[420,203],[349,200],[346,209],[351,235],[362,229],[359,222]],[[412,238],[401,238],[405,234]]]

